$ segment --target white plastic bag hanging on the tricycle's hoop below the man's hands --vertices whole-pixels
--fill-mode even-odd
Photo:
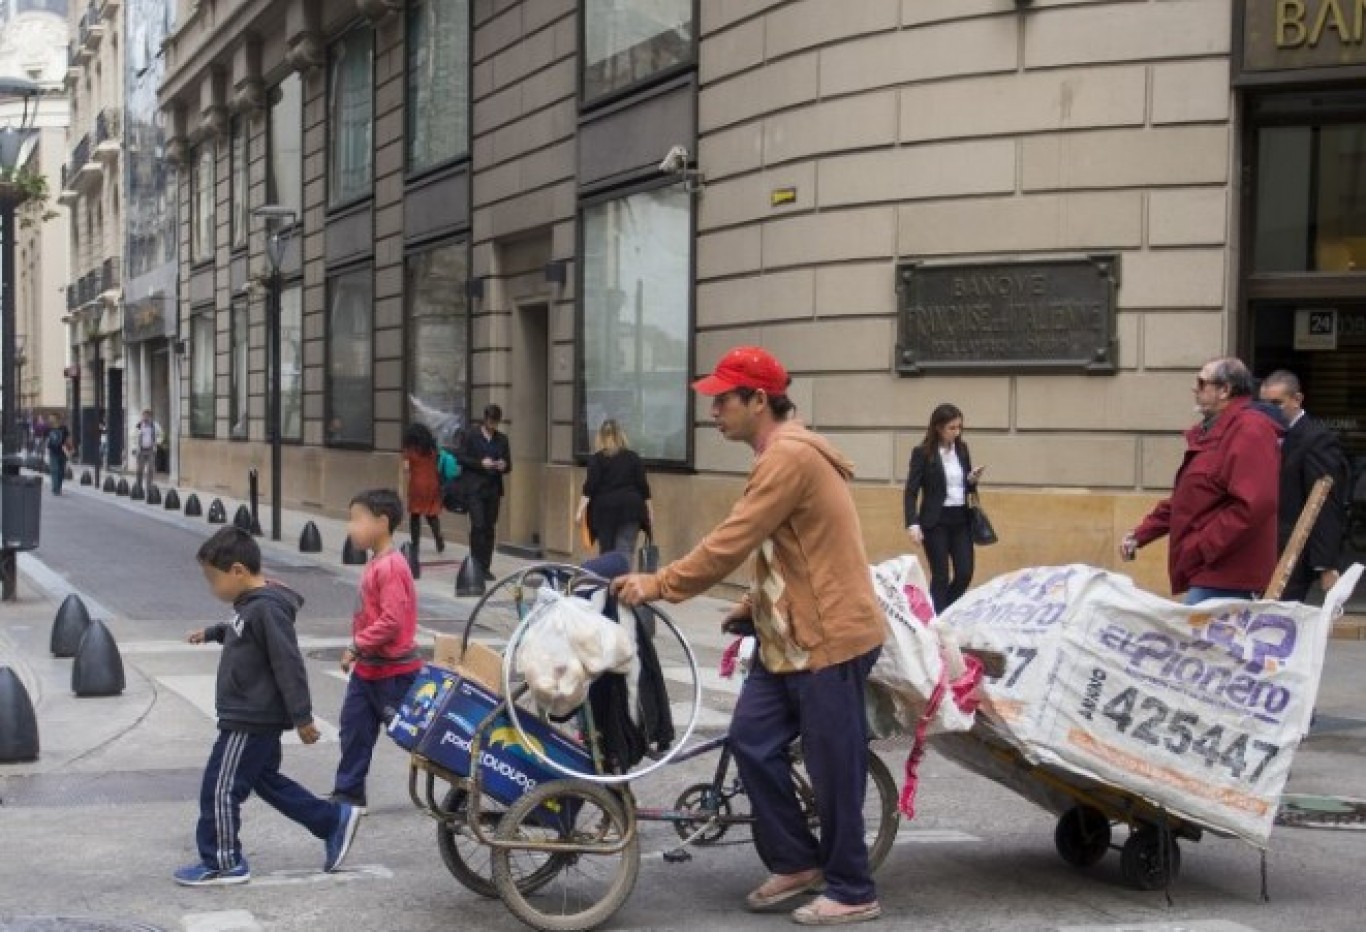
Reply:
[[[527,615],[516,670],[535,704],[556,717],[583,705],[594,678],[628,672],[635,659],[628,626],[602,616],[602,599],[605,592],[594,604],[542,586]]]

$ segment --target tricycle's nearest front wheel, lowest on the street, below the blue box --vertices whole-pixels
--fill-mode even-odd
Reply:
[[[544,932],[585,932],[612,918],[635,887],[641,840],[617,795],[586,780],[542,783],[518,799],[499,823],[493,884],[508,910]],[[519,854],[537,845],[570,845],[550,883],[522,890]]]

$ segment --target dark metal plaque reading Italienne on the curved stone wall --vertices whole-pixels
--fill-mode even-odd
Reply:
[[[1109,374],[1119,256],[897,268],[896,370]]]

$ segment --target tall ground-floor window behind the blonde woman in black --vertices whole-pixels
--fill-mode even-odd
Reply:
[[[615,418],[646,459],[687,459],[691,209],[671,184],[583,210],[581,452]]]

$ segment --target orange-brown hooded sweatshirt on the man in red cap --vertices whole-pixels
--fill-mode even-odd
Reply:
[[[646,596],[698,596],[755,555],[749,601],[764,666],[821,670],[881,646],[885,623],[848,481],[854,465],[796,422],[775,430],[720,526],[654,575]],[[656,592],[650,592],[656,589]]]

